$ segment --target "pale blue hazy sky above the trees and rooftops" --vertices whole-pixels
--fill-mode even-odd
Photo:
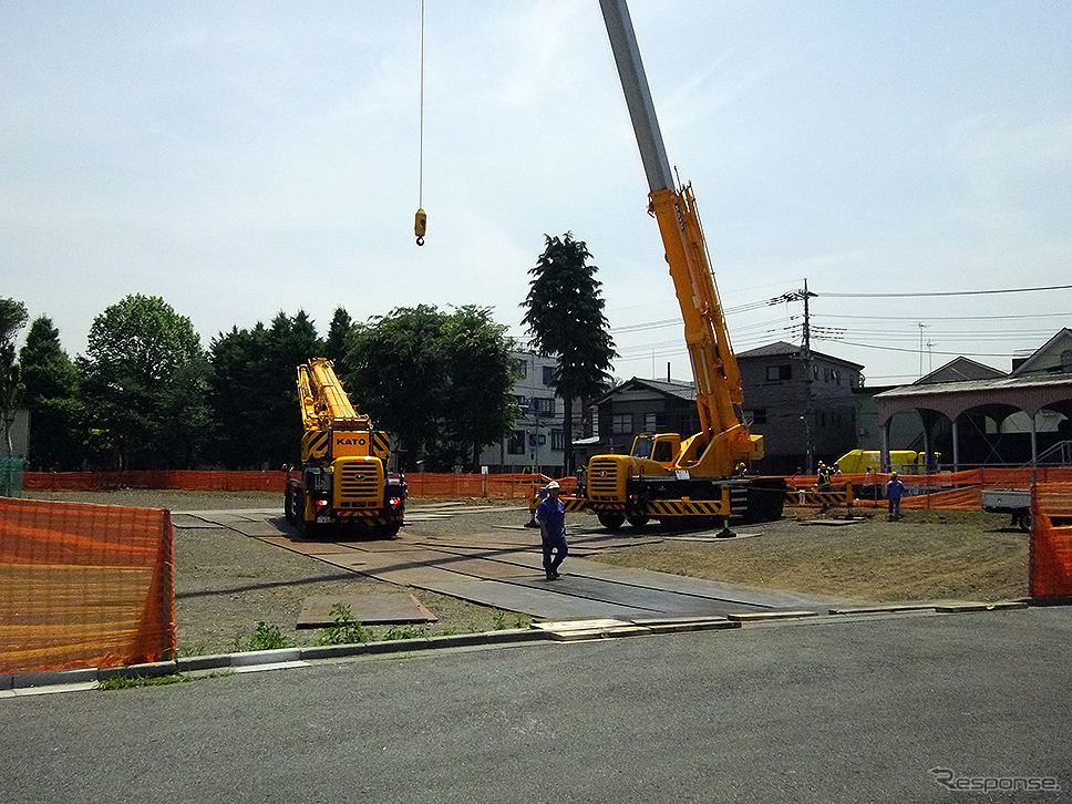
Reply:
[[[833,296],[1072,284],[1072,3],[630,9],[739,351],[800,342],[800,303],[755,302],[805,278],[813,347],[868,384],[1007,370],[1072,326],[1070,290]],[[72,355],[134,292],[206,346],[279,311],[323,332],[340,305],[488,306],[520,336],[544,235],[570,230],[616,373],[689,379],[596,0],[427,0],[423,188],[420,0],[4,0],[0,21],[0,296]]]

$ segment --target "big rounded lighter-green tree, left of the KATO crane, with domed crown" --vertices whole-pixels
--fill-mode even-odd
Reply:
[[[190,320],[132,295],[93,320],[83,401],[92,434],[120,468],[189,466],[207,424],[207,362]]]

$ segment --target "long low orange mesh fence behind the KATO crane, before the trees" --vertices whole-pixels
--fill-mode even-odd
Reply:
[[[485,497],[527,499],[538,474],[450,474],[413,472],[405,475],[411,497]],[[570,478],[571,481],[574,478]],[[120,488],[174,488],[210,492],[277,492],[286,472],[148,471],[148,472],[25,472],[29,492],[106,492]],[[576,481],[574,481],[576,483]]]

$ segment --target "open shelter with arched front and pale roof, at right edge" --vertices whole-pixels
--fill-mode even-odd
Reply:
[[[961,468],[959,425],[966,416],[975,414],[992,419],[998,432],[1001,432],[1001,423],[1022,411],[1030,423],[1031,464],[1034,465],[1039,461],[1039,413],[1050,410],[1065,420],[1072,420],[1072,373],[1010,374],[992,380],[904,385],[880,393],[875,400],[878,402],[878,423],[887,465],[890,421],[898,413],[911,411],[922,420],[924,450],[928,455],[935,452],[938,425],[942,420],[949,421],[955,472]]]

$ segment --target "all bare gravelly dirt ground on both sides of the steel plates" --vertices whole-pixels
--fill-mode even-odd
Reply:
[[[172,512],[268,508],[269,493],[125,489],[78,494],[28,494],[38,498],[140,505]],[[466,501],[467,504],[481,501]],[[418,509],[424,501],[411,499]],[[516,524],[518,502],[488,502],[486,509],[406,526],[406,535],[451,535]],[[1028,535],[1008,518],[982,512],[907,511],[887,522],[864,511],[852,522],[843,512],[787,508],[781,522],[734,524],[733,539],[698,540],[694,534],[649,528],[656,544],[602,550],[596,560],[723,580],[870,601],[1003,600],[1027,595]],[[595,517],[567,517],[567,529],[596,527]],[[629,533],[622,528],[621,534]],[[708,533],[707,536],[710,536]],[[315,558],[225,528],[175,529],[176,628],[181,656],[249,649],[264,622],[288,645],[315,645],[323,631],[297,629],[302,601],[320,595],[410,592],[439,621],[429,626],[373,628],[374,638],[414,633],[464,633],[525,626],[528,619],[467,601],[346,573]],[[393,630],[392,630],[393,629]]]

